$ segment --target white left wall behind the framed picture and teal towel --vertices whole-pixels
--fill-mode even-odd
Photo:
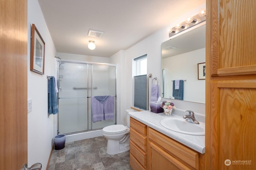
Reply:
[[[34,23],[45,42],[44,75],[30,71],[31,25]],[[28,99],[32,99],[32,111],[28,113],[28,166],[40,162],[46,169],[53,145],[53,120],[48,115],[48,81],[55,76],[56,53],[52,37],[37,0],[28,0]]]

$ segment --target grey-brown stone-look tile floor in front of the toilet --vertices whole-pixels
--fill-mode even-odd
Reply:
[[[53,150],[48,170],[132,170],[129,151],[109,155],[106,146],[103,136],[66,143]]]

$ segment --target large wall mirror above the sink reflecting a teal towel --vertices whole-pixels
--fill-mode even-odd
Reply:
[[[179,100],[205,103],[205,35],[204,22],[162,43],[163,98],[179,99],[174,97],[178,85]]]

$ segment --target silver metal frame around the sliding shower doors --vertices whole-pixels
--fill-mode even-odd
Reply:
[[[63,59],[57,59],[57,86],[58,86],[58,89],[60,89],[59,87],[59,62],[62,62],[62,63],[72,63],[72,64],[86,64],[87,65],[87,87],[89,85],[89,64],[90,65],[102,65],[102,66],[114,66],[115,67],[115,87],[117,86],[117,81],[116,81],[116,78],[117,78],[117,66],[116,64],[107,64],[107,63],[94,63],[94,62],[87,62],[87,61],[73,61],[73,60],[63,60]],[[91,72],[91,81],[92,81],[92,73],[93,73],[93,70]],[[116,125],[117,123],[117,95],[116,95],[116,88],[115,88],[115,100],[114,100],[114,105],[115,105],[115,120],[114,120],[114,123]],[[88,131],[95,131],[95,130],[99,130],[99,129],[103,129],[103,128],[98,128],[98,129],[90,129],[89,130],[89,98],[91,98],[91,94],[89,96],[89,88],[87,88],[87,113],[85,112],[85,114],[87,115],[87,129],[88,130],[85,130],[85,131],[79,131],[79,132],[73,132],[73,133],[67,133],[66,135],[72,135],[72,134],[78,134],[78,133],[83,133],[83,132],[88,132]],[[57,93],[57,99],[58,99],[58,108],[59,108],[59,93]],[[57,135],[59,134],[59,114],[57,114]],[[92,116],[91,116],[91,119],[92,119]],[[92,120],[91,120],[92,122]],[[92,127],[92,124],[90,125],[90,127]]]

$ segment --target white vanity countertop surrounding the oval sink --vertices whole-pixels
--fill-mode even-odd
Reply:
[[[205,136],[196,136],[196,135],[186,135],[183,133],[178,133],[175,131],[171,131],[166,129],[160,124],[160,121],[164,118],[168,117],[177,117],[180,118],[181,116],[173,114],[172,115],[165,115],[164,113],[153,113],[151,111],[137,111],[128,113],[130,117],[148,125],[149,127],[163,133],[164,135],[190,147],[191,149],[196,150],[202,154],[205,153]]]

